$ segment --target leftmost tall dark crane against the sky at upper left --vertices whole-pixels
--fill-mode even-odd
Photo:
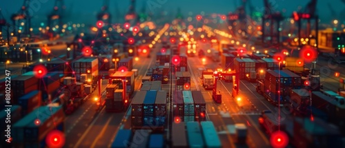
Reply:
[[[20,25],[24,27],[24,34],[31,34],[31,16],[29,6],[30,0],[24,0],[23,6],[21,6],[19,12],[12,14],[11,19],[14,25],[13,34],[17,34],[17,28],[21,30]]]

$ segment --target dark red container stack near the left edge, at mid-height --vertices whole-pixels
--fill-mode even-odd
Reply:
[[[18,98],[38,89],[38,78],[35,76],[17,76],[11,80],[11,103],[17,104]]]

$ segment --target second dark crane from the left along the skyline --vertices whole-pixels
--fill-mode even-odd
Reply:
[[[49,32],[53,33],[61,33],[62,30],[62,17],[63,17],[63,10],[66,9],[66,6],[63,5],[63,0],[55,0],[54,9],[48,15],[48,27]],[[58,25],[59,27],[56,28],[55,26]]]

